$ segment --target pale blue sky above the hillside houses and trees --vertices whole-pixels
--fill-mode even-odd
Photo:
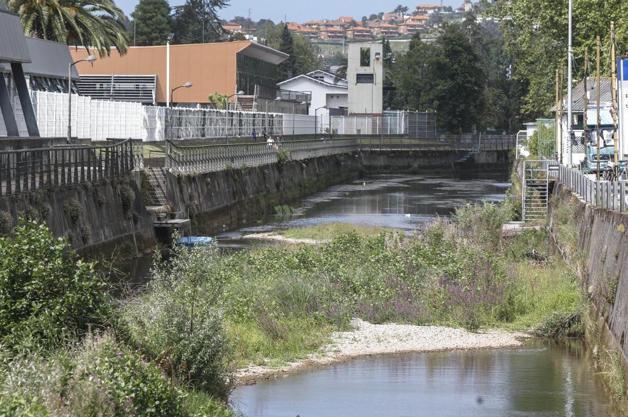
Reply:
[[[185,0],[169,1],[171,6],[185,3]],[[417,4],[438,3],[440,0],[414,0],[414,3],[404,3],[403,0],[230,0],[230,6],[222,9],[219,16],[225,20],[232,19],[234,16],[246,18],[250,8],[251,19],[254,21],[271,19],[279,22],[287,18],[288,21],[303,23],[308,20],[337,19],[338,16],[351,16],[359,20],[362,16],[369,16],[373,13],[389,12],[398,4],[408,6],[410,10],[413,10]],[[463,0],[443,0],[443,6],[454,8],[463,3]],[[135,9],[138,0],[117,0],[116,4],[128,16]]]

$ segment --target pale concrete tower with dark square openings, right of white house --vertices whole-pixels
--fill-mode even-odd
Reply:
[[[382,43],[350,43],[347,58],[349,115],[381,115],[383,86]]]

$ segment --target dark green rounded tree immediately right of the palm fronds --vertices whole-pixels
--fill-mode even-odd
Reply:
[[[164,45],[166,36],[172,32],[170,5],[166,0],[139,0],[131,17],[138,46]]]

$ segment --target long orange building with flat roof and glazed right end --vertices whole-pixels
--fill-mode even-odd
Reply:
[[[73,60],[85,58],[84,48],[70,46]],[[251,41],[170,45],[170,88],[187,82],[191,88],[179,88],[175,103],[208,103],[208,95],[219,92],[273,100],[277,92],[277,66],[288,59],[283,52]],[[166,46],[131,46],[126,55],[112,51],[91,65],[79,62],[83,75],[155,75],[154,101],[166,102]],[[257,86],[257,88],[256,88]],[[115,88],[115,85],[109,85]]]

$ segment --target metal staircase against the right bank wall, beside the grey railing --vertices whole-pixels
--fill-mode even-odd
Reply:
[[[523,221],[545,218],[548,213],[549,176],[546,161],[524,161],[521,217]]]

